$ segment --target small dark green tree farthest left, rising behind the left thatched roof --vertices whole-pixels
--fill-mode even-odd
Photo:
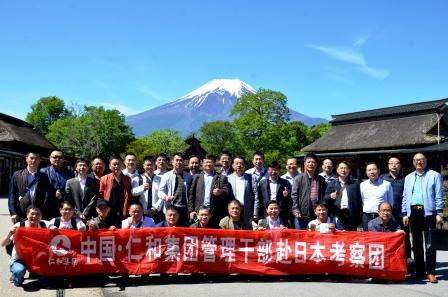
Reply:
[[[26,115],[26,120],[34,126],[37,133],[45,136],[50,125],[70,114],[64,100],[56,96],[42,97],[31,105],[31,111]]]

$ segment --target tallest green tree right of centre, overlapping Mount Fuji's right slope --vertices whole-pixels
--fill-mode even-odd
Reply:
[[[280,92],[260,89],[256,94],[241,96],[230,111],[236,142],[246,156],[261,150],[265,154],[278,151],[283,135],[278,129],[289,122],[287,98]],[[274,155],[278,155],[275,153]]]

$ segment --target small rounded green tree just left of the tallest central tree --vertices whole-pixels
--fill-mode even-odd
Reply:
[[[199,129],[199,139],[204,149],[215,156],[223,150],[238,153],[235,147],[235,134],[228,121],[206,122]]]

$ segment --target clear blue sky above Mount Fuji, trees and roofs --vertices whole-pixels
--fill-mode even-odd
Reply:
[[[448,97],[444,0],[0,0],[0,112],[40,97],[135,114],[214,78],[341,114]]]

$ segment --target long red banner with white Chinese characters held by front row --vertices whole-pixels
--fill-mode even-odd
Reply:
[[[403,280],[404,235],[301,230],[19,228],[16,250],[42,275],[86,273],[343,274]]]

